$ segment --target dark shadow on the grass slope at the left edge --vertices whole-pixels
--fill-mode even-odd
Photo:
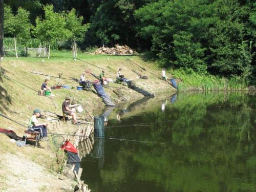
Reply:
[[[4,84],[3,75],[5,74],[6,70],[0,68],[0,83]],[[5,113],[5,111],[9,110],[9,105],[12,103],[11,97],[8,94],[7,90],[2,87],[0,84],[0,112]]]

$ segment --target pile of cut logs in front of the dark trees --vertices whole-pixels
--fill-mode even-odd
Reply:
[[[115,45],[115,47],[108,48],[108,47],[101,47],[97,49],[95,54],[102,54],[102,55],[132,55],[135,54],[136,52],[132,50],[128,46],[119,46],[118,44]]]

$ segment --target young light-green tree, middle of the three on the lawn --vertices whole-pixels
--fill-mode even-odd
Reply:
[[[45,6],[44,10],[45,19],[36,18],[33,34],[48,46],[48,58],[50,58],[51,44],[58,40],[67,40],[72,34],[66,28],[65,15],[54,12],[52,5]]]

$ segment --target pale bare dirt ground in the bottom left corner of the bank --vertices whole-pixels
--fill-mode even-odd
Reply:
[[[59,180],[22,154],[2,154],[0,164],[0,191],[72,191],[71,181]]]

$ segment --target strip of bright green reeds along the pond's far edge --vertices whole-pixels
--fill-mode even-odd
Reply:
[[[172,70],[173,78],[181,79],[178,83],[179,91],[190,90],[248,90],[248,81],[240,77],[223,78],[214,75],[201,75],[196,72],[187,73],[182,69]]]

